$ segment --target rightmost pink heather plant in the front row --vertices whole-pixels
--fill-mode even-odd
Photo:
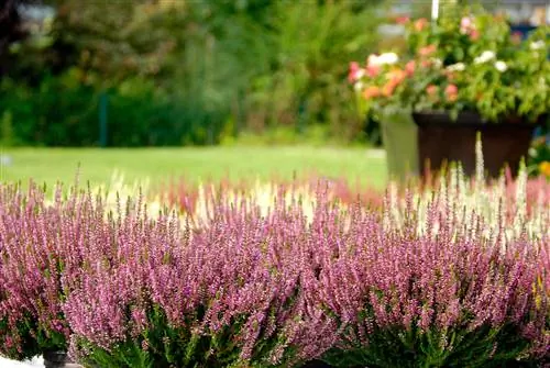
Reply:
[[[430,205],[425,220],[411,196],[407,202],[402,225],[388,228],[355,211],[349,241],[318,249],[324,266],[305,283],[315,285],[316,304],[343,330],[326,360],[337,367],[501,367],[547,357],[548,234],[529,239],[522,232],[503,248],[504,228],[487,236],[474,211],[466,220],[472,226],[464,226],[450,207]],[[418,233],[419,221],[426,233]]]

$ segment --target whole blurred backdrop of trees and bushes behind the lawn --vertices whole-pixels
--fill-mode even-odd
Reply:
[[[469,2],[469,1],[462,1]],[[471,1],[473,3],[473,1]],[[546,0],[485,1],[518,32]],[[350,60],[430,1],[1,0],[2,146],[380,144]]]

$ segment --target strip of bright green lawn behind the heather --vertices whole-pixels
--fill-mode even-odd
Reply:
[[[383,187],[385,158],[366,148],[314,147],[208,147],[208,148],[3,148],[10,165],[0,171],[2,181],[28,182],[30,178],[52,186],[58,180],[74,182],[80,164],[80,182],[108,182],[114,170],[127,181],[150,178],[160,182],[170,177],[199,179],[292,178],[296,172],[360,179]]]

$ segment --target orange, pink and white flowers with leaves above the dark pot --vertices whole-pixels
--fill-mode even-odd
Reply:
[[[476,112],[485,121],[536,121],[550,108],[549,27],[526,40],[504,16],[446,9],[431,24],[404,21],[408,55],[371,55],[351,63],[350,82],[363,112]]]

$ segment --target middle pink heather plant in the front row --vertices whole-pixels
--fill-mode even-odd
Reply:
[[[299,203],[282,198],[267,216],[253,199],[217,203],[201,232],[175,213],[125,218],[114,258],[87,259],[64,305],[73,356],[101,367],[265,367],[331,346],[333,333],[317,334],[333,322],[306,321],[300,274],[314,253]],[[129,230],[139,242],[124,241]]]

